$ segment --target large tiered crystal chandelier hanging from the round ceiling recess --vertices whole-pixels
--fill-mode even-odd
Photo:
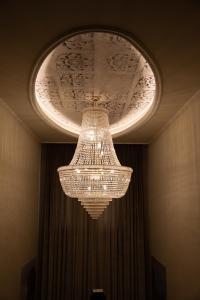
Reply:
[[[117,158],[105,109],[84,110],[72,161],[58,172],[64,193],[78,198],[93,219],[99,218],[113,198],[126,193],[132,169],[121,166]]]

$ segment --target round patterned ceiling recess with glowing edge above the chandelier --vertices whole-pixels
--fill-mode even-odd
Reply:
[[[31,83],[32,102],[40,116],[72,134],[80,133],[85,108],[105,108],[116,136],[153,114],[158,78],[150,58],[130,37],[79,31],[59,40],[40,59]]]

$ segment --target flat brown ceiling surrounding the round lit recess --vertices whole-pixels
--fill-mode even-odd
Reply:
[[[43,51],[73,29],[113,27],[129,32],[157,66],[160,105],[145,124],[116,138],[148,143],[200,88],[200,5],[198,1],[4,1],[0,9],[0,98],[41,142],[76,139],[48,125],[35,112],[30,78]]]

